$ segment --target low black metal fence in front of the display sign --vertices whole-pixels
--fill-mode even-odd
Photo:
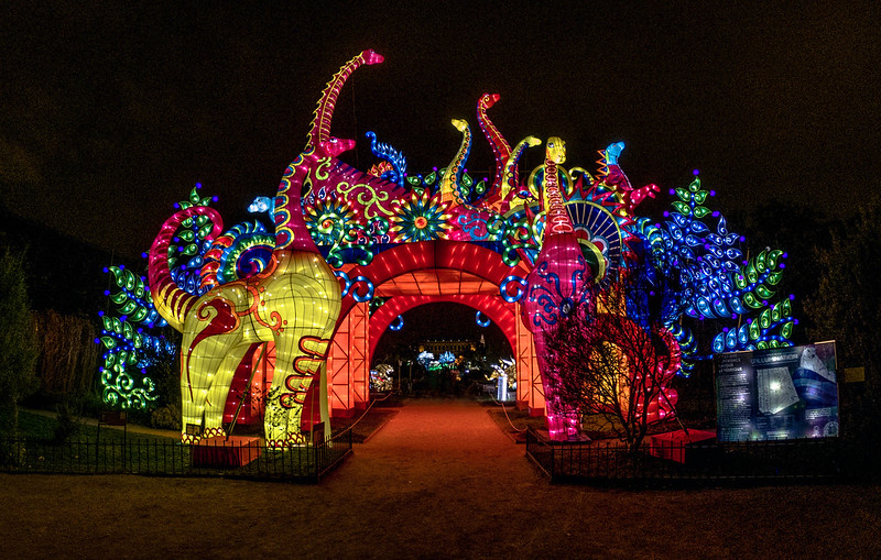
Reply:
[[[648,438],[646,438],[648,440]],[[553,482],[665,485],[836,481],[855,476],[839,438],[653,447],[618,441],[555,442],[530,429],[526,455]]]

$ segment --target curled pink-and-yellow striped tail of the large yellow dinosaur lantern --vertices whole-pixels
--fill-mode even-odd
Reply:
[[[216,210],[207,206],[193,206],[165,220],[150,248],[148,270],[153,305],[168,325],[178,331],[183,331],[184,319],[198,297],[175,284],[168,266],[168,251],[177,228],[187,218],[197,216],[207,216],[214,223],[214,229],[207,239],[216,238],[224,230],[224,222]]]

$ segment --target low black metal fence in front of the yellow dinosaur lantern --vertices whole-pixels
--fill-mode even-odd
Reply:
[[[284,450],[215,438],[198,446],[129,438],[63,443],[0,438],[0,471],[47,474],[225,476],[318,482],[351,453],[351,430]]]

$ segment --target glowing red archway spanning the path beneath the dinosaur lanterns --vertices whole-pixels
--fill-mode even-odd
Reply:
[[[393,246],[369,264],[348,265],[341,273],[346,296],[326,378],[331,415],[352,414],[369,403],[370,360],[388,326],[409,309],[444,301],[468,305],[502,329],[518,362],[518,406],[543,414],[532,337],[520,320],[518,304],[501,296],[509,276],[526,275],[523,264],[509,266],[498,252],[479,244],[436,240]],[[368,293],[389,298],[372,317]]]

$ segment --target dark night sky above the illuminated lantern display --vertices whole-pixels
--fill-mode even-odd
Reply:
[[[273,194],[325,84],[365,48],[385,63],[355,74],[333,129],[361,168],[367,130],[411,172],[446,166],[452,118],[472,124],[468,167],[490,168],[475,106],[498,92],[512,144],[559,135],[591,171],[624,141],[637,186],[698,168],[724,212],[844,208],[879,186],[877,2],[40,4],[0,13],[2,199],[121,255],[197,182],[227,226]]]

